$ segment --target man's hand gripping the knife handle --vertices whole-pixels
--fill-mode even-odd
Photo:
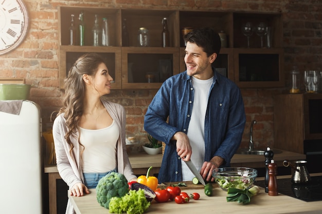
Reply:
[[[187,134],[183,132],[176,132],[171,140],[176,141],[176,152],[184,161],[189,161],[192,153]]]

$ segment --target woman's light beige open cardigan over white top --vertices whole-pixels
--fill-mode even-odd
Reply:
[[[124,174],[128,181],[136,176],[133,174],[129,157],[126,151],[126,113],[124,107],[102,100],[106,110],[110,113],[112,119],[115,121],[119,128],[119,139],[117,141],[117,170],[119,173]],[[55,142],[56,150],[56,163],[58,172],[61,178],[66,182],[69,188],[73,187],[76,183],[84,183],[82,168],[80,166],[80,146],[78,144],[78,132],[76,137],[71,138],[74,144],[73,155],[70,155],[70,146],[67,144],[64,136],[67,132],[66,120],[63,114],[57,116],[53,122],[52,134]],[[66,207],[66,214],[75,213],[73,206],[68,201]]]

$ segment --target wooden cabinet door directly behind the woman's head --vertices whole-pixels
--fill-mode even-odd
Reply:
[[[112,82],[112,89],[121,89],[121,64],[119,63],[121,62],[120,47],[75,46],[71,49],[70,46],[60,46],[60,87],[64,88],[64,79],[78,57],[88,52],[96,52],[103,57],[106,67],[108,67],[109,73],[114,79]]]

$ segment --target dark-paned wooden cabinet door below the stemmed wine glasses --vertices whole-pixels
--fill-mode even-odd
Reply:
[[[235,83],[241,88],[283,87],[283,49],[234,49]]]

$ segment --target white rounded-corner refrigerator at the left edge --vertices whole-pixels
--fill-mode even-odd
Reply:
[[[1,214],[42,213],[41,130],[40,108],[31,101],[19,114],[0,111]]]

